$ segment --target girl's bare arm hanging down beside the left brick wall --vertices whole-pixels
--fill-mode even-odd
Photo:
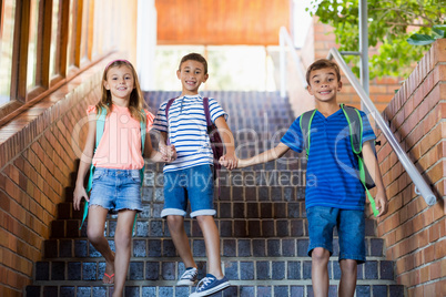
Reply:
[[[90,201],[85,187],[83,186],[83,181],[85,175],[90,170],[90,165],[93,157],[94,142],[97,136],[97,114],[92,113],[89,115],[89,132],[87,133],[85,147],[83,148],[81,162],[79,164],[78,177],[75,180],[75,187],[73,194],[73,207],[74,211],[80,209],[82,197]]]

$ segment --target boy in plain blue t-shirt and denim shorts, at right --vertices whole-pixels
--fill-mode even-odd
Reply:
[[[306,72],[307,91],[315,99],[316,113],[311,126],[311,154],[306,168],[305,207],[308,219],[312,257],[312,284],[314,296],[328,296],[328,258],[333,254],[333,228],[339,237],[341,281],[339,296],[354,296],[357,264],[365,262],[365,190],[357,178],[357,157],[352,151],[348,122],[336,102],[342,89],[336,63],[322,59],[310,65]],[[387,197],[379,166],[371,142],[376,139],[371,124],[363,117],[363,157],[376,184],[378,216],[387,212]],[[291,125],[274,148],[256,156],[239,160],[237,167],[277,160],[290,148],[304,148],[300,117]],[[221,162],[226,165],[225,160]]]

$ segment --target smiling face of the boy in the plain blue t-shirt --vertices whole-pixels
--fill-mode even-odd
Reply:
[[[342,82],[331,68],[318,69],[311,72],[308,93],[317,101],[331,102],[342,89]]]

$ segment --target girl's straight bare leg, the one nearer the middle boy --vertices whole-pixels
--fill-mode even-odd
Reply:
[[[114,233],[114,245],[116,255],[114,257],[114,291],[113,297],[122,296],[126,272],[129,269],[132,228],[136,211],[120,211],[118,215],[116,231]]]

